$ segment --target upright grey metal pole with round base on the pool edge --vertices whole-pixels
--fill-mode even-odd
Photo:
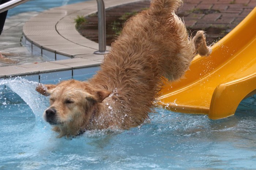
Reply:
[[[99,51],[94,54],[107,54],[106,51],[106,14],[103,0],[96,0],[98,5],[98,33],[99,33]]]

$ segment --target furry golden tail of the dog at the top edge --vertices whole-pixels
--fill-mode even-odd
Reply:
[[[166,13],[176,13],[182,4],[182,0],[152,0],[149,11],[158,16],[166,15]]]

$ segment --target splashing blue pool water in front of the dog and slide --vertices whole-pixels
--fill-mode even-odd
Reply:
[[[36,86],[0,80],[0,169],[256,168],[256,96],[222,120],[156,108],[140,127],[68,140],[56,138],[42,119],[49,103]]]

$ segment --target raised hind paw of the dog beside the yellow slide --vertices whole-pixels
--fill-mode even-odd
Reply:
[[[197,31],[192,42],[195,44],[195,50],[200,56],[208,56],[211,54],[212,49],[206,46],[204,31]]]

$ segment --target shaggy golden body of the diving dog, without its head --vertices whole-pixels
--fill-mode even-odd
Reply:
[[[90,80],[113,92],[105,100],[114,110],[111,114],[121,115],[118,123],[123,128],[144,122],[161,88],[162,76],[181,78],[196,54],[195,40],[190,40],[175,14],[181,4],[181,0],[153,0],[148,10],[129,19],[101,70]],[[204,38],[203,32],[199,37]]]

